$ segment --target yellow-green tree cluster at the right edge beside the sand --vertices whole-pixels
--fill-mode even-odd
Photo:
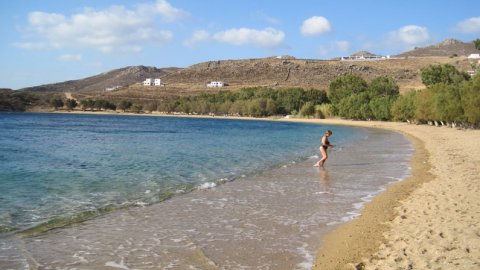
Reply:
[[[440,125],[480,124],[480,74],[473,77],[452,65],[422,69],[426,89],[402,95],[392,106],[393,119]]]

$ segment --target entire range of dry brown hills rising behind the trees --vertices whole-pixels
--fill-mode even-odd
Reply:
[[[473,42],[446,40],[425,48],[417,48],[390,59],[376,60],[318,60],[294,57],[219,60],[187,68],[125,67],[96,76],[62,83],[25,88],[34,92],[73,93],[77,97],[106,96],[112,99],[157,99],[172,95],[199,92],[236,90],[246,86],[303,87],[327,89],[338,75],[354,73],[366,80],[391,76],[401,91],[424,87],[420,70],[431,64],[452,64],[466,71],[471,68],[466,56],[478,53]],[[357,55],[374,55],[359,52]],[[453,57],[455,56],[455,57]],[[145,78],[161,78],[164,86],[147,87],[140,84]],[[210,81],[223,81],[224,88],[207,88]],[[106,88],[121,86],[115,91]]]

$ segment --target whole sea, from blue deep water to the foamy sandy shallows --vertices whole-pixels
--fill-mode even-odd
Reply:
[[[373,128],[0,113],[0,269],[311,269],[413,152]]]

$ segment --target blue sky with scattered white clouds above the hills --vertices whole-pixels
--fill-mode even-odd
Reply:
[[[132,65],[398,54],[480,38],[478,0],[17,0],[0,3],[0,88]]]

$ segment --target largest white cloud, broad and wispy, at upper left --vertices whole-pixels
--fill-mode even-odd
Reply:
[[[165,0],[143,4],[136,9],[111,6],[104,10],[84,9],[65,16],[57,13],[32,12],[29,29],[38,36],[37,42],[16,43],[25,49],[83,47],[105,53],[138,52],[145,44],[162,45],[173,33],[155,26],[157,17],[174,21],[187,13],[172,7]]]

